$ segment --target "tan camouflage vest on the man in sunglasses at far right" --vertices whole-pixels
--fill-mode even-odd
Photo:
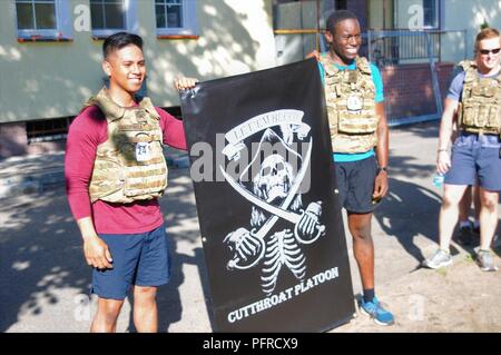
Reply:
[[[481,78],[474,61],[464,60],[465,71],[458,120],[462,130],[475,134],[501,135],[501,73]]]

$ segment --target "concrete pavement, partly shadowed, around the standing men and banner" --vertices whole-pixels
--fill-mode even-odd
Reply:
[[[501,296],[501,274],[481,273],[472,262],[473,250],[454,245],[453,267],[419,268],[436,240],[436,122],[391,130],[391,193],[375,213],[373,236],[376,290],[397,324],[379,327],[360,316],[333,332],[501,331],[501,310],[492,307]],[[174,274],[158,294],[160,332],[212,332],[193,185],[185,158],[174,156],[170,165],[180,168],[170,169],[161,199]],[[62,154],[0,161],[0,332],[89,328],[95,308],[87,297],[90,270],[67,206],[62,164]],[[360,293],[350,239],[354,292]],[[118,332],[130,329],[126,302]]]

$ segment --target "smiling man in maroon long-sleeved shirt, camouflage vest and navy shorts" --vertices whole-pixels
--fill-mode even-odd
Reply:
[[[181,121],[138,98],[146,76],[143,39],[120,32],[104,43],[109,88],[72,122],[65,175],[71,211],[92,266],[98,308],[91,332],[115,332],[134,286],[138,332],[157,332],[157,287],[168,283],[170,260],[158,197],[167,186],[163,144],[187,149]],[[181,78],[176,88],[190,88]]]

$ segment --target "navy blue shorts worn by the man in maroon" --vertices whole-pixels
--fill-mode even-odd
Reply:
[[[165,226],[141,234],[100,234],[108,245],[112,269],[92,272],[91,293],[125,299],[131,285],[160,286],[169,282],[170,257]]]

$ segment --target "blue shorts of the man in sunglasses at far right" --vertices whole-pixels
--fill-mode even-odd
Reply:
[[[501,141],[499,136],[461,134],[452,146],[451,169],[445,184],[478,185],[501,190]]]

